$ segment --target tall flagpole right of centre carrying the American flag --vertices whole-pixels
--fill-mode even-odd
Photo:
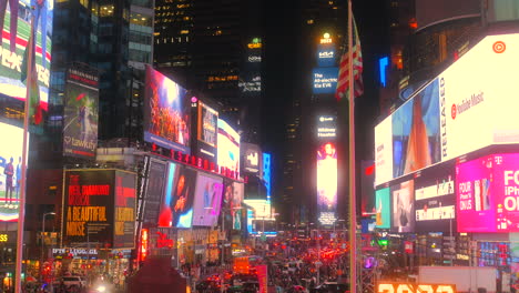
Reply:
[[[355,89],[353,60],[353,11],[348,0],[348,127],[349,127],[349,290],[357,292],[357,210],[355,199]]]

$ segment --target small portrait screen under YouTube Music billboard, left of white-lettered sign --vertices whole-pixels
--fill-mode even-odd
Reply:
[[[390,186],[393,199],[391,230],[415,232],[415,182],[413,180]]]

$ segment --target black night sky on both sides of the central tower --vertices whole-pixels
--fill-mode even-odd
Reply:
[[[281,190],[283,156],[286,152],[285,125],[288,108],[302,80],[295,71],[299,58],[304,57],[298,48],[301,38],[301,11],[303,1],[276,1],[275,9],[267,2],[265,13],[265,64],[263,105],[263,146],[274,158],[274,188]],[[297,4],[294,7],[293,4]],[[373,159],[374,127],[378,111],[378,58],[388,52],[388,38],[384,3],[374,8],[373,1],[354,0],[353,10],[357,21],[364,59],[365,93],[356,100],[357,158]],[[347,16],[344,17],[347,21]],[[342,53],[340,53],[342,54]],[[302,99],[305,99],[302,97]],[[308,98],[307,98],[308,99]],[[282,131],[283,130],[283,131]]]

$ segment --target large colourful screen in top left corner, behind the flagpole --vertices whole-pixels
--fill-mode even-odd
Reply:
[[[2,1],[0,8],[0,23],[2,23],[2,43],[0,46],[0,97],[7,97],[2,105],[9,111],[11,101],[26,100],[26,84],[23,72],[23,57],[28,48],[31,31],[31,6],[34,7],[35,29],[35,70],[38,74],[38,87],[40,102],[47,111],[49,102],[50,64],[52,49],[52,19],[54,1],[28,1],[11,0]],[[9,4],[8,4],[9,3]],[[3,100],[3,99],[1,99]],[[23,110],[23,105],[21,105]]]

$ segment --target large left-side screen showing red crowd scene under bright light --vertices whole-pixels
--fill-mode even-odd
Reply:
[[[144,140],[190,153],[190,112],[187,91],[146,65]]]

